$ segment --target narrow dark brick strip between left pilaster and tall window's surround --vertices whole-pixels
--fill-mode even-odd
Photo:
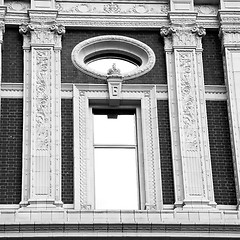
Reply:
[[[62,99],[62,201],[73,203],[73,102]]]

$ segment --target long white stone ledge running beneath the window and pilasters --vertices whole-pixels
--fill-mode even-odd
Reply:
[[[0,237],[239,238],[238,211],[2,210]],[[213,224],[214,222],[214,224]]]

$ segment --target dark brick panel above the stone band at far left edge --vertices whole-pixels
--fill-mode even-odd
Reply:
[[[7,28],[2,45],[2,81],[23,82],[23,37],[18,28]]]

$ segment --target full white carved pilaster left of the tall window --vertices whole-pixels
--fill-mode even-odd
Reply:
[[[24,37],[22,205],[61,206],[61,36],[55,11],[29,11]]]

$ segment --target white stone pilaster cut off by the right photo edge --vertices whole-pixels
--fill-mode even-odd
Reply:
[[[238,207],[240,204],[240,10],[219,11]]]

